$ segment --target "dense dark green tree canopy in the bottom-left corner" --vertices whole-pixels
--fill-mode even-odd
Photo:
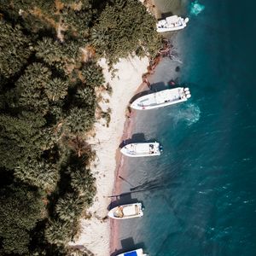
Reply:
[[[44,206],[37,190],[12,185],[0,190],[0,236],[5,253],[28,254],[29,232],[39,218],[44,217]]]

